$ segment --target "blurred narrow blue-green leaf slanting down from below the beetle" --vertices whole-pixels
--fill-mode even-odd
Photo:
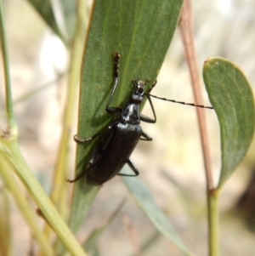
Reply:
[[[127,169],[127,166],[123,169]],[[144,211],[150,221],[155,225],[156,229],[173,244],[179,248],[184,255],[192,255],[184,246],[184,243],[178,237],[177,233],[173,230],[173,226],[167,219],[166,215],[158,208],[156,202],[150,195],[150,191],[146,188],[144,183],[139,177],[130,179],[130,177],[122,178],[127,185],[128,191],[133,196],[133,199],[139,204],[139,207]]]

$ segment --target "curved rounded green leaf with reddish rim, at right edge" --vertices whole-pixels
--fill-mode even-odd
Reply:
[[[220,127],[222,166],[218,186],[221,186],[240,164],[252,141],[254,100],[246,77],[229,60],[208,59],[203,78]]]

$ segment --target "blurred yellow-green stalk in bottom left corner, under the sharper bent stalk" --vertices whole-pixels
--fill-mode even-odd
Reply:
[[[26,196],[24,196],[24,193],[20,190],[20,186],[14,179],[14,175],[10,174],[11,170],[8,168],[6,162],[2,158],[0,158],[0,165],[1,177],[4,180],[4,183],[7,185],[8,191],[12,194],[12,196],[14,196],[14,201],[20,209],[24,219],[26,219],[26,223],[29,225],[31,233],[41,248],[43,255],[54,255],[53,248],[46,237],[43,236],[35,213],[31,211],[31,207],[26,200]]]

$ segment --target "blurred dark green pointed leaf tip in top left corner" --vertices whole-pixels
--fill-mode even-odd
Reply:
[[[65,37],[59,30],[59,26],[54,16],[54,10],[49,0],[27,0],[37,13],[42,17],[42,20],[65,42]],[[72,2],[72,1],[71,1]]]

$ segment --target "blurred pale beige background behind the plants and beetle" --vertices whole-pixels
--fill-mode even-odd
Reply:
[[[207,58],[221,56],[239,65],[251,84],[255,84],[255,2],[195,0],[192,3],[195,48],[200,71]],[[68,54],[59,38],[49,31],[28,2],[6,0],[4,9],[13,98],[17,100],[14,111],[19,125],[21,151],[37,179],[48,191],[59,145]],[[63,76],[56,79],[59,74]],[[189,76],[183,45],[176,31],[153,94],[193,102]],[[26,100],[19,100],[26,92],[40,88],[48,82],[50,84],[47,88],[38,94]],[[201,85],[204,104],[210,105],[202,79]],[[1,87],[3,92],[3,85]],[[0,98],[2,110],[3,95],[2,93]],[[207,255],[206,182],[195,109],[161,100],[153,102],[157,122],[142,124],[144,131],[150,134],[153,141],[140,142],[131,158],[157,204],[167,214],[190,250],[196,255]],[[150,116],[149,105],[145,105],[143,113]],[[206,116],[216,184],[220,169],[218,121],[214,111],[206,110]],[[0,124],[2,129],[6,127],[3,115]],[[77,112],[74,113],[72,134],[76,134],[76,130]],[[71,177],[75,148],[75,142],[71,142]],[[255,167],[254,152],[253,142],[245,161],[224,185],[220,200],[222,255],[254,255],[252,252],[255,236],[251,221],[255,214],[255,209],[252,211],[255,196],[253,201],[250,200],[251,196],[248,196],[248,199],[242,197],[240,201],[252,180]],[[149,219],[128,195],[122,179],[116,176],[99,191],[78,237],[82,240],[90,230],[103,224],[123,198],[126,198],[126,202],[121,213],[98,242],[99,250],[104,252],[104,256],[133,253],[133,243],[128,235],[130,227],[140,244],[156,234]],[[236,207],[237,205],[239,207]],[[14,203],[13,208],[11,218],[14,255],[26,255],[31,245],[31,234]],[[144,255],[181,254],[166,238],[159,236]]]

